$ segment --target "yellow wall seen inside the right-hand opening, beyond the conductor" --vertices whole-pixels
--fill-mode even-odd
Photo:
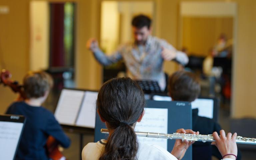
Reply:
[[[233,37],[232,17],[183,17],[182,21],[182,46],[192,55],[206,57],[222,33],[227,39]]]

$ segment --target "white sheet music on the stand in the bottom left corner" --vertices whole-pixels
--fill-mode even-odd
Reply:
[[[13,160],[23,123],[0,122],[0,159]]]

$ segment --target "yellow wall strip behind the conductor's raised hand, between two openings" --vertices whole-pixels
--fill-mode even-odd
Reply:
[[[96,90],[102,83],[102,68],[87,50],[86,41],[100,36],[99,0],[78,1],[76,16],[76,84],[78,88]]]

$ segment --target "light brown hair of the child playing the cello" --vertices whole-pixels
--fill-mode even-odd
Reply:
[[[26,98],[40,98],[46,95],[53,86],[52,77],[43,71],[29,71],[23,78]]]

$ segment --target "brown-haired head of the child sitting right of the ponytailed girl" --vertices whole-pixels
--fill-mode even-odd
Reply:
[[[177,71],[169,78],[169,94],[174,101],[194,101],[200,94],[199,78],[186,71]]]

